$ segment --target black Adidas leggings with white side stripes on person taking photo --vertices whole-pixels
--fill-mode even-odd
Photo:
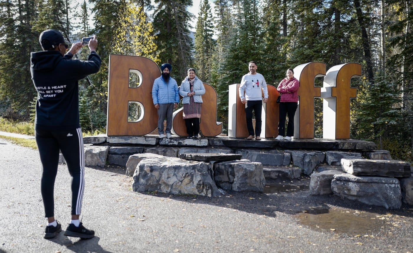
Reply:
[[[59,149],[62,151],[71,175],[71,214],[80,215],[85,187],[82,130],[80,128],[70,131],[36,130],[35,138],[42,162],[40,188],[45,206],[45,217],[55,216],[54,188]]]

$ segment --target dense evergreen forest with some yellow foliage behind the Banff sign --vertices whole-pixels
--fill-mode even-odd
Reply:
[[[240,82],[249,61],[275,87],[287,68],[303,63],[321,61],[328,70],[356,62],[363,76],[351,81],[358,88],[351,101],[351,138],[374,141],[394,159],[412,160],[411,0],[201,0],[197,13],[188,11],[191,6],[192,0],[2,0],[0,119],[33,121],[37,93],[30,52],[41,50],[40,32],[53,28],[69,42],[92,34],[99,41],[102,67],[79,82],[85,132],[106,132],[109,54],[171,63],[178,83],[195,68],[218,93],[224,133],[228,85]],[[87,56],[84,49],[75,57]],[[132,74],[130,85],[138,82]],[[322,87],[323,78],[316,85]],[[315,135],[322,138],[322,99],[314,103]],[[131,119],[138,109],[130,107]]]

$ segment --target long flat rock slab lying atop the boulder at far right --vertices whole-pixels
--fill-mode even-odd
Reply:
[[[409,177],[410,163],[395,160],[341,159],[343,171],[360,176]]]

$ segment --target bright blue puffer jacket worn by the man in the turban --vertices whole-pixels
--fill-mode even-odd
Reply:
[[[179,103],[178,84],[175,79],[169,77],[168,83],[165,82],[162,76],[155,79],[152,87],[152,99],[154,105]]]

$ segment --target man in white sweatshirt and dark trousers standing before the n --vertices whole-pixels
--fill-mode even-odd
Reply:
[[[242,77],[239,89],[241,101],[245,104],[245,115],[247,117],[249,133],[247,140],[254,139],[254,134],[256,140],[261,140],[262,101],[267,103],[268,100],[267,83],[264,77],[260,73],[257,73],[257,63],[255,61],[248,63],[248,69],[249,73]],[[264,99],[262,99],[261,89],[264,93]],[[255,114],[255,133],[254,127],[252,126],[252,110],[254,110]]]

